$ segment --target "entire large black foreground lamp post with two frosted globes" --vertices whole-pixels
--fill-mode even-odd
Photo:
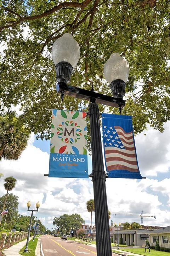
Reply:
[[[89,118],[91,133],[91,153],[92,153],[92,177],[94,184],[94,203],[96,221],[96,247],[97,256],[111,256],[111,242],[108,219],[107,195],[106,195],[106,173],[103,165],[102,142],[100,132],[100,113],[98,104],[118,107],[125,106],[123,97],[125,95],[125,82],[128,80],[129,64],[120,57],[118,53],[113,53],[111,58],[104,65],[104,75],[110,84],[113,97],[99,94],[68,85],[73,68],[77,65],[80,57],[79,44],[71,34],[64,34],[58,38],[52,46],[52,59],[55,63],[57,92],[61,92],[63,101],[64,95],[78,97],[82,100],[89,100]]]

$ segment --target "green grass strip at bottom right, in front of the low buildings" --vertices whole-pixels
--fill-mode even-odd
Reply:
[[[132,252],[134,254],[141,254],[141,255],[145,255],[145,256],[167,256],[170,255],[169,252],[163,252],[163,251],[155,251],[153,249],[150,249],[150,253],[149,250],[147,250],[147,252],[145,252],[145,248],[132,248],[132,249],[120,249],[121,251],[128,251],[128,252]],[[112,250],[114,252],[114,250]],[[118,252],[118,251],[115,251]],[[130,255],[129,255],[130,256]]]

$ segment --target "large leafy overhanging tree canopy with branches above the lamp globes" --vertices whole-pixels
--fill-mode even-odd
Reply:
[[[169,0],[2,0],[0,110],[19,105],[23,123],[41,138],[50,134],[48,109],[87,110],[72,97],[62,105],[55,89],[51,47],[68,32],[81,49],[70,84],[111,95],[103,65],[120,53],[130,65],[122,113],[134,116],[135,133],[146,123],[163,131],[170,119],[169,14]]]

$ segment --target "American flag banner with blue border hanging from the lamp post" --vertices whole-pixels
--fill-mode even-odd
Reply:
[[[108,177],[138,178],[132,116],[102,114],[104,156]]]

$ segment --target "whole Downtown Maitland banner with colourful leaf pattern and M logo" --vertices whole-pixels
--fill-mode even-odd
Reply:
[[[49,177],[89,178],[86,112],[52,110]]]

